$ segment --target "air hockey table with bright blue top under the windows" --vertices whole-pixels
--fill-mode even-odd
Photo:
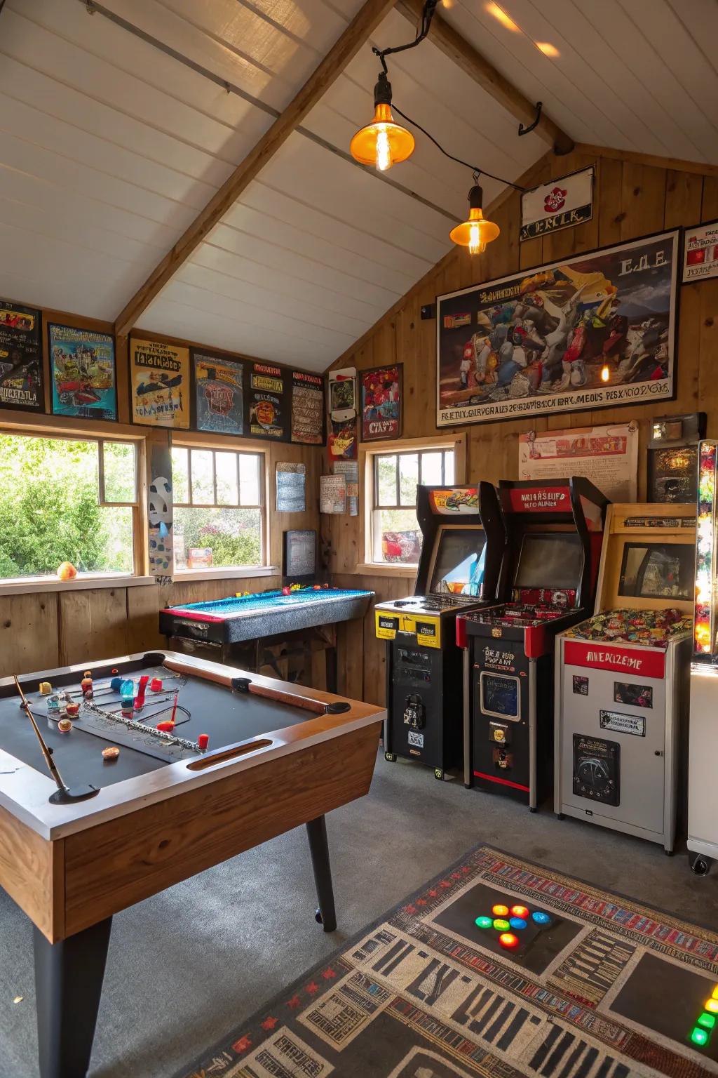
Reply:
[[[159,632],[174,650],[254,671],[268,666],[278,676],[272,645],[281,641],[304,655],[318,645],[326,655],[326,687],[336,692],[336,625],[363,618],[374,595],[310,585],[188,603],[160,610]]]

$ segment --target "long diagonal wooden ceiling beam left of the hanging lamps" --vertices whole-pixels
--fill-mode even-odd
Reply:
[[[241,193],[274,156],[277,151],[299,126],[343,69],[394,6],[394,0],[366,0],[343,33],[338,38],[319,67],[309,77],[269,130],[237,166],[203,210],[178,239],[135,293],[115,321],[115,333],[126,336],[138,318],[171,280],[178,270],[199,247],[208,233],[234,206]]]

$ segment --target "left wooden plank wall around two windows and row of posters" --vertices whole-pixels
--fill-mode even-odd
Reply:
[[[9,298],[10,299],[10,298]],[[13,296],[18,303],[28,301],[22,295]],[[30,305],[30,304],[28,304]],[[43,329],[50,321],[68,326],[112,333],[110,322],[83,318],[67,312],[43,310]],[[138,332],[138,336],[151,341],[167,341],[173,344],[201,345],[156,333]],[[45,372],[47,365],[46,332],[43,333]],[[213,349],[219,355],[234,355]],[[110,438],[138,434],[147,440],[163,441],[169,438],[167,430],[133,426],[129,423],[129,398],[127,374],[127,340],[118,337],[117,358],[117,403],[119,423],[99,423],[68,419],[64,416],[33,416],[19,411],[0,411],[0,430],[38,430],[39,432],[65,431],[87,436]],[[234,355],[234,358],[238,358]],[[239,357],[247,359],[248,357]],[[46,384],[46,407],[50,410],[50,379]],[[179,432],[178,432],[179,433]],[[182,432],[187,441],[207,436]],[[267,495],[267,520],[269,524],[269,564],[282,564],[282,531],[287,528],[319,529],[319,475],[322,469],[322,454],[316,446],[268,443],[259,439],[219,438],[216,444],[228,448],[263,450],[266,452],[266,467],[269,472]],[[278,461],[300,462],[307,469],[307,511],[304,513],[277,513],[276,466]],[[278,586],[279,577],[238,577],[224,580],[195,580],[175,582],[161,588],[157,584],[123,588],[98,588],[53,592],[20,593],[0,595],[0,677],[13,673],[26,674],[33,671],[52,669],[73,663],[93,663],[165,645],[158,633],[158,611],[170,604],[193,603],[224,598],[235,592],[259,592]]]

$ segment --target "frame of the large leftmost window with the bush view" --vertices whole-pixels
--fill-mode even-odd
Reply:
[[[36,438],[48,441],[94,442],[97,444],[97,497],[101,508],[128,508],[132,511],[132,568],[129,572],[117,570],[108,572],[82,572],[72,580],[58,580],[53,573],[38,577],[0,577],[0,595],[14,595],[28,592],[53,591],[87,591],[97,588],[130,586],[135,584],[154,583],[154,577],[146,575],[147,542],[146,512],[143,494],[145,489],[146,445],[140,434],[130,434],[118,429],[114,431],[93,433],[81,428],[57,428],[50,425],[30,426],[5,423],[0,420],[0,434],[17,438]],[[113,501],[107,498],[104,488],[104,443],[123,443],[135,450],[135,500]]]

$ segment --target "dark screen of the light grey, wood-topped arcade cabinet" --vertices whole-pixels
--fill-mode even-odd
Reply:
[[[627,542],[618,594],[627,598],[692,599],[693,547],[686,543]]]

